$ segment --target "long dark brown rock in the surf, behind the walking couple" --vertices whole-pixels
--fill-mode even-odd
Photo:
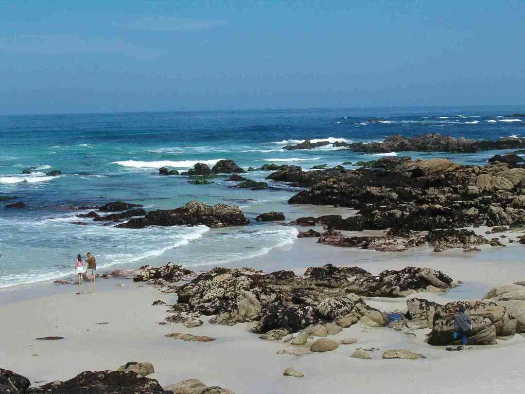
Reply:
[[[174,210],[149,211],[145,217],[131,219],[117,227],[142,229],[146,226],[206,225],[217,228],[246,224],[249,224],[249,220],[246,219],[238,206],[225,204],[209,206],[191,201]]]

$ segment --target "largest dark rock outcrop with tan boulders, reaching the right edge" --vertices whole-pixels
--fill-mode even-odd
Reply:
[[[447,159],[403,161],[393,168],[390,165],[385,161],[385,168],[390,169],[339,173],[305,172],[292,166],[269,178],[310,188],[292,196],[290,204],[358,210],[356,215],[331,223],[329,228],[334,230],[391,229],[399,237],[409,231],[525,223],[525,199],[521,194],[525,168],[500,162],[484,167],[460,165]],[[485,243],[471,240],[474,244]],[[464,242],[456,244],[468,247]]]

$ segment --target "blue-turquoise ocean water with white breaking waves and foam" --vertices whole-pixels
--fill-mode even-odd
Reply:
[[[267,253],[295,242],[296,230],[272,224],[209,230],[207,227],[116,229],[78,221],[79,205],[124,200],[146,209],[169,209],[191,200],[240,205],[250,218],[287,210],[298,190],[236,190],[218,179],[191,185],[185,177],[161,177],[166,165],[186,170],[197,162],[232,159],[241,167],[265,163],[315,164],[373,160],[343,149],[285,151],[310,140],[381,141],[393,134],[440,132],[454,137],[525,137],[525,119],[503,115],[523,107],[316,109],[111,113],[0,117],[0,196],[17,196],[27,210],[8,210],[0,202],[0,287],[68,276],[77,253],[97,256],[99,267],[131,268],[181,262],[195,268]],[[369,119],[381,122],[369,122]],[[482,165],[496,151],[478,154],[406,153],[413,158],[446,157]],[[388,154],[403,154],[390,152]],[[20,174],[28,167],[30,175]],[[348,166],[351,168],[351,166]],[[59,177],[45,172],[58,169]],[[264,179],[268,172],[254,172]],[[10,201],[12,202],[12,201]]]

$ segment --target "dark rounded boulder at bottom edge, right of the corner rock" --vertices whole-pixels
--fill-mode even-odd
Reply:
[[[41,388],[49,394],[164,394],[158,381],[131,371],[84,371]]]

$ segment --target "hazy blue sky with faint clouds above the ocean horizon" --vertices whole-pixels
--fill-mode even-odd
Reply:
[[[523,0],[0,0],[0,114],[524,103]]]

